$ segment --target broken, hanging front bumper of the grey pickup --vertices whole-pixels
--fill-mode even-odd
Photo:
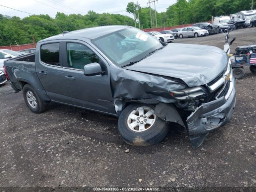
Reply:
[[[198,148],[208,133],[229,122],[236,104],[236,82],[230,78],[226,95],[199,106],[186,120],[190,142]]]

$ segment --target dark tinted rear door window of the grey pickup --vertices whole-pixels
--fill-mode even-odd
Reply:
[[[60,43],[49,43],[41,46],[40,50],[41,61],[60,66]]]

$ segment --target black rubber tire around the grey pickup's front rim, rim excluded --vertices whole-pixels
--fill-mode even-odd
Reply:
[[[118,119],[118,130],[124,142],[132,146],[148,146],[161,142],[168,133],[168,125],[158,116],[155,116],[155,122],[148,129],[137,132],[128,127],[129,115],[139,107],[149,107],[154,110],[153,105],[130,104],[120,114]]]

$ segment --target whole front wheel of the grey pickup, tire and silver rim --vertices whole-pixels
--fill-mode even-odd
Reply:
[[[147,104],[130,104],[128,105],[120,114],[120,117],[118,119],[118,131],[123,138],[124,142],[126,142],[129,145],[132,146],[148,146],[153,145],[161,142],[168,133],[168,125],[166,122],[164,122],[162,119],[160,119],[158,116],[154,115],[152,113],[149,118],[147,117],[147,120],[149,122],[154,123],[152,125],[144,123],[144,116],[140,117],[138,113],[138,109],[144,109],[143,115],[147,114],[147,111],[154,112],[154,106],[153,105],[147,105]],[[141,131],[139,129],[140,123],[136,122],[136,120],[132,120],[130,117],[131,115],[138,115],[137,118],[140,118],[138,121],[142,122],[144,124],[144,130]],[[142,121],[143,119],[143,121]],[[135,127],[131,128],[129,127],[128,123],[130,124],[135,122]],[[136,126],[136,124],[138,124]],[[143,126],[142,126],[143,127]]]

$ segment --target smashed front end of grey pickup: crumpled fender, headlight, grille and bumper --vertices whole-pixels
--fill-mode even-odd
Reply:
[[[110,82],[118,115],[127,103],[155,104],[156,116],[188,128],[193,148],[199,147],[211,130],[224,126],[232,116],[236,90],[229,64],[215,80],[196,87],[188,87],[177,78],[110,67],[116,68]]]

